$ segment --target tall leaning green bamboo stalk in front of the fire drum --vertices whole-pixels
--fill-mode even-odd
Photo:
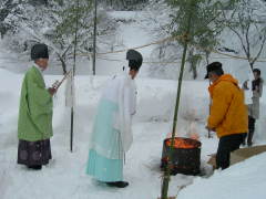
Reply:
[[[172,159],[173,159],[173,148],[174,148],[174,138],[175,138],[175,129],[177,125],[177,115],[178,115],[178,108],[180,108],[180,100],[181,100],[181,90],[182,90],[182,81],[183,81],[183,74],[184,74],[184,67],[185,67],[185,62],[186,62],[186,52],[187,52],[187,46],[188,46],[188,40],[190,40],[190,33],[191,33],[191,23],[192,23],[192,12],[193,12],[193,4],[195,0],[191,0],[191,9],[190,9],[190,15],[188,15],[188,21],[187,21],[187,30],[185,33],[185,42],[184,42],[184,50],[183,50],[183,55],[182,55],[182,64],[181,64],[181,70],[180,70],[180,77],[178,77],[178,86],[177,86],[177,94],[176,94],[176,102],[175,102],[175,113],[174,113],[174,124],[173,124],[173,129],[172,129],[172,140],[171,140],[171,147],[170,147],[170,156],[168,156],[168,163],[166,166],[166,170],[164,171],[163,176],[163,186],[162,186],[162,192],[161,192],[161,198],[162,199],[167,199],[167,192],[168,192],[168,184],[171,179],[171,166],[172,166]]]

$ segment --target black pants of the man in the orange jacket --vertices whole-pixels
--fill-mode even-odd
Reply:
[[[246,134],[234,134],[219,138],[216,154],[217,168],[226,169],[229,167],[231,153],[238,149]]]

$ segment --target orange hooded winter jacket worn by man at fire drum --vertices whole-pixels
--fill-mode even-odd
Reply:
[[[218,137],[247,133],[247,106],[237,80],[224,74],[208,87],[208,91],[213,100],[208,127],[214,128]]]

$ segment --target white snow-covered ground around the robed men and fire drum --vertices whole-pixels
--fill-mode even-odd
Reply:
[[[176,93],[175,81],[139,78],[137,114],[133,124],[134,144],[126,154],[124,178],[130,182],[125,189],[113,189],[92,180],[85,175],[88,143],[100,92],[110,76],[76,76],[76,106],[74,119],[74,151],[69,151],[70,109],[64,106],[64,85],[54,97],[54,136],[52,143],[52,161],[41,171],[28,170],[17,165],[17,121],[20,86],[23,75],[0,70],[0,192],[1,199],[24,198],[156,198],[161,190],[160,160],[163,140],[171,129],[172,108]],[[48,85],[62,76],[45,76]],[[215,153],[217,138],[206,138],[204,128],[207,116],[208,97],[206,82],[184,82],[177,134],[194,128],[201,135],[202,170],[211,174],[206,164],[209,154]],[[264,95],[265,100],[265,95]],[[265,118],[265,115],[264,115]],[[193,125],[192,125],[193,124]],[[266,135],[257,137],[263,144]],[[216,171],[211,178],[176,175],[170,184],[170,196],[177,195],[180,187],[191,185],[181,192],[181,197],[198,198],[244,198],[255,196],[265,198],[265,154],[246,163]],[[245,180],[244,180],[245,179]],[[222,184],[222,185],[218,185]],[[202,186],[208,187],[202,191]],[[257,185],[257,187],[256,187]],[[250,187],[252,186],[252,187]],[[193,188],[191,188],[193,187]],[[238,189],[239,188],[239,189]],[[191,190],[193,189],[193,190]],[[247,189],[243,192],[242,189]],[[218,191],[221,190],[221,193]],[[224,193],[222,195],[222,191]],[[192,192],[194,196],[191,196]],[[180,198],[180,196],[178,196]],[[248,197],[246,197],[248,198]]]

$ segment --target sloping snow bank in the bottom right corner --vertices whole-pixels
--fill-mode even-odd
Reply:
[[[193,185],[182,190],[178,199],[265,199],[266,153],[218,170],[211,178],[196,178]],[[203,191],[205,190],[205,191]]]

